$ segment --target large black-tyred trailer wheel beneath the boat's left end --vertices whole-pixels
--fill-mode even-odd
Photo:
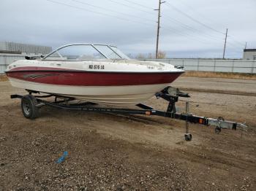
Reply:
[[[38,117],[37,99],[33,95],[25,95],[21,99],[21,110],[24,117],[35,119]]]

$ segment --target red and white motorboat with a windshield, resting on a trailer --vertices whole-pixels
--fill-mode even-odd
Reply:
[[[170,86],[183,69],[130,59],[108,44],[67,44],[45,56],[15,61],[5,71],[13,87],[97,104],[138,104]]]

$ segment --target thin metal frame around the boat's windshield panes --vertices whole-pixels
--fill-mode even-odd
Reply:
[[[45,55],[44,58],[42,58],[42,61],[48,61],[46,58],[48,58],[50,55],[53,55],[55,52],[57,52],[59,54],[59,50],[65,48],[65,47],[70,47],[70,46],[79,46],[79,45],[86,45],[86,46],[91,46],[93,47],[95,50],[97,50],[97,52],[99,52],[104,58],[106,59],[111,59],[111,60],[128,60],[128,56],[126,55],[126,58],[122,58],[121,55],[119,55],[115,50],[113,50],[113,48],[111,47],[115,47],[115,46],[112,46],[112,45],[108,45],[108,44],[84,44],[84,43],[76,43],[76,44],[66,44],[62,47],[58,47],[56,48],[56,50],[53,50],[52,52],[50,52],[48,55]],[[108,58],[107,55],[104,54],[104,52],[102,52],[101,50],[99,50],[99,48],[95,47],[94,45],[97,45],[97,46],[106,46],[108,47],[110,50],[112,50],[119,58]],[[117,47],[116,47],[117,49]],[[119,50],[121,52],[121,50]],[[123,53],[124,54],[124,53]],[[125,55],[125,54],[124,54]],[[46,59],[46,60],[45,60]],[[89,59],[89,60],[99,60],[99,59]],[[50,61],[50,60],[49,60]],[[69,60],[69,61],[79,61],[79,60]],[[80,61],[83,61],[83,60],[80,60]]]

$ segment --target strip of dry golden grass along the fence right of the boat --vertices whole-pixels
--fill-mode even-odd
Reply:
[[[229,72],[213,72],[213,71],[186,71],[182,77],[214,77],[229,79],[256,79],[256,74],[241,74]]]

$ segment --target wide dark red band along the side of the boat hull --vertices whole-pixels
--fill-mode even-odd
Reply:
[[[34,67],[37,68],[37,67]],[[45,69],[45,68],[44,68]],[[7,72],[7,77],[52,85],[84,85],[84,86],[119,86],[119,85],[153,85],[173,82],[181,72],[163,73],[112,73],[87,71],[21,71]],[[24,70],[24,68],[23,68]],[[62,70],[62,69],[61,69]]]

